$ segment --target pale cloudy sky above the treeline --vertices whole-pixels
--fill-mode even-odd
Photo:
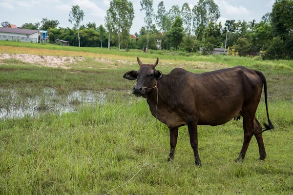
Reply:
[[[139,0],[130,0],[134,8],[134,20],[130,28],[130,34],[139,32],[144,25],[144,14],[141,13]],[[161,0],[153,0],[154,11],[157,11]],[[179,3],[180,2],[180,3]],[[166,10],[172,5],[182,5],[187,2],[192,8],[198,0],[164,0]],[[272,11],[274,0],[214,0],[219,6],[221,17],[218,20],[225,24],[226,20],[245,20],[256,22],[267,12]],[[59,20],[60,27],[72,28],[68,21],[69,12],[73,5],[79,5],[84,10],[84,20],[81,24],[95,22],[105,26],[105,14],[109,8],[110,0],[0,0],[0,23],[8,21],[11,24],[22,26],[24,23],[41,22],[43,18],[48,20]]]

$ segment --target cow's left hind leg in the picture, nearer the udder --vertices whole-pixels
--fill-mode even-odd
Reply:
[[[249,143],[251,141],[251,137],[254,135],[254,125],[253,125],[253,119],[254,119],[254,113],[251,113],[249,111],[244,112],[243,117],[243,130],[244,130],[244,139],[243,139],[243,145],[242,149],[239,153],[238,158],[235,161],[242,161],[244,160],[244,157],[246,155],[246,151],[248,149]]]

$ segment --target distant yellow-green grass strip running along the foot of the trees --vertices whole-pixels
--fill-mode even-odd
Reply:
[[[104,54],[104,55],[117,55],[120,58],[125,57],[133,57],[133,61],[136,60],[136,57],[151,59],[154,61],[157,57],[159,59],[164,60],[174,60],[176,61],[204,61],[210,63],[221,63],[226,64],[229,66],[237,66],[237,65],[245,65],[250,68],[255,68],[258,70],[292,70],[293,69],[293,61],[289,60],[261,60],[258,57],[255,58],[241,58],[241,57],[234,57],[234,56],[198,56],[193,55],[191,57],[188,56],[180,56],[180,55],[166,55],[161,51],[152,51],[149,53],[143,53],[139,50],[133,50],[130,52],[125,51],[118,51],[118,50],[108,50],[106,48],[99,48],[99,47],[73,47],[73,46],[60,46],[54,44],[37,44],[37,43],[26,43],[26,42],[13,42],[13,41],[0,41],[0,45],[3,46],[13,46],[13,47],[26,47],[26,48],[38,48],[38,49],[49,49],[49,50],[63,50],[63,51],[71,51],[71,52],[86,52],[86,53],[93,53],[93,54]],[[5,52],[4,52],[5,53]],[[50,55],[50,54],[47,54]],[[76,54],[75,54],[76,55]],[[151,63],[151,61],[147,61],[147,63]],[[276,66],[277,65],[277,66]]]

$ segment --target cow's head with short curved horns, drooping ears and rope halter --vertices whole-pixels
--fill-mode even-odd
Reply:
[[[132,94],[147,98],[154,91],[156,80],[160,80],[163,77],[161,71],[155,69],[159,62],[159,58],[157,58],[154,64],[144,64],[138,57],[137,62],[140,66],[138,71],[131,70],[125,73],[123,78],[127,78],[129,80],[137,79],[136,85],[133,87]]]

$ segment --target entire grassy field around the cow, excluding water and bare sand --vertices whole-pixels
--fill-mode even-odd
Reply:
[[[56,54],[56,49],[49,48],[53,46],[36,45],[0,41],[0,53]],[[199,127],[203,164],[199,168],[194,166],[186,127],[180,128],[174,162],[167,162],[169,130],[158,123],[157,133],[146,100],[128,93],[135,81],[122,76],[138,69],[132,63],[140,55],[138,51],[124,55],[126,52],[92,52],[97,48],[63,48],[58,48],[61,56],[86,59],[69,64],[69,69],[2,59],[0,88],[18,90],[20,102],[37,96],[46,87],[57,89],[59,94],[76,89],[107,91],[106,101],[83,105],[61,116],[45,113],[0,119],[0,194],[293,194],[292,61],[159,56],[163,60],[157,69],[164,74],[176,66],[202,73],[244,65],[261,70],[267,77],[269,112],[275,130],[263,134],[266,160],[257,160],[258,147],[252,138],[245,161],[233,161],[242,146],[243,130],[242,119],[232,120],[221,126]],[[157,57],[143,55],[148,62]],[[94,58],[127,63],[108,67]],[[5,97],[0,93],[1,100]],[[3,104],[0,102],[0,107]],[[256,117],[261,123],[267,122],[263,98]]]

